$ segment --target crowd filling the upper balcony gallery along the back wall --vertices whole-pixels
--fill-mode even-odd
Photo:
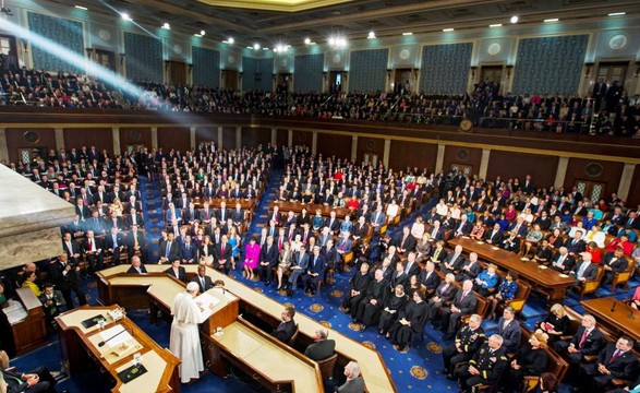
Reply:
[[[640,97],[629,97],[616,82],[596,84],[589,97],[511,94],[498,83],[482,82],[469,93],[239,92],[233,90],[137,82],[125,93],[87,75],[38,70],[3,70],[0,105],[147,109],[270,117],[351,119],[458,126],[463,119],[484,128],[640,138]]]

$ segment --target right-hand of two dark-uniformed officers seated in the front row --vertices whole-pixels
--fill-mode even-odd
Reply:
[[[480,384],[496,384],[507,366],[503,337],[493,334],[473,355],[469,365],[456,369],[455,376],[459,380],[461,392],[471,392],[473,386]]]

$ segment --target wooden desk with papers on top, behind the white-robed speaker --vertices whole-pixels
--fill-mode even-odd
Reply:
[[[112,392],[180,392],[180,359],[119,310],[83,306],[56,318],[63,370],[76,376],[97,365]]]

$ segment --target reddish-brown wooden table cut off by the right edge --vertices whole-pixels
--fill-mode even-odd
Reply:
[[[614,301],[616,309],[612,311]],[[619,331],[636,342],[640,341],[640,311],[613,297],[582,300],[580,303],[584,310],[595,317],[597,323],[608,327],[612,332]],[[630,319],[629,315],[632,315],[633,319]]]

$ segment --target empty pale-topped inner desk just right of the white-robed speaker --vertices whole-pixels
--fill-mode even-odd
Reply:
[[[242,319],[208,338],[215,344],[208,347],[212,362],[225,357],[273,392],[323,392],[315,361]]]

